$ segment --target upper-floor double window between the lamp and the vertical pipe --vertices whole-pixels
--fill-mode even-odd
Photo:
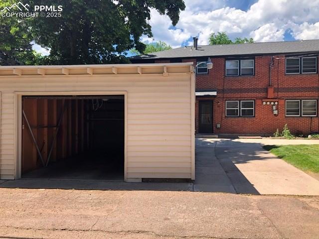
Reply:
[[[255,60],[226,60],[226,76],[249,76],[255,73]]]

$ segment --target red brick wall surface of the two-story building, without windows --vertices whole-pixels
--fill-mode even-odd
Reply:
[[[213,100],[214,133],[238,134],[273,134],[277,128],[282,129],[287,123],[293,133],[304,135],[311,131],[319,132],[318,117],[286,117],[285,100],[317,99],[319,100],[318,74],[285,74],[284,56],[275,56],[271,70],[271,85],[274,87],[272,99],[278,102],[278,116],[273,114],[271,105],[263,105],[267,100],[269,86],[269,63],[271,56],[255,57],[254,76],[225,76],[225,59],[212,58],[213,68],[208,74],[196,75],[196,89],[215,89],[216,98],[197,98],[195,106],[196,132],[198,132],[198,101]],[[196,59],[183,59],[194,62]],[[255,117],[225,117],[226,100],[254,100]],[[216,128],[220,123],[221,127]]]

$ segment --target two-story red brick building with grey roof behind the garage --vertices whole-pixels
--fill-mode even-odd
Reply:
[[[319,40],[193,46],[131,58],[132,63],[200,62],[196,133],[319,132]],[[212,69],[205,62],[210,58]]]

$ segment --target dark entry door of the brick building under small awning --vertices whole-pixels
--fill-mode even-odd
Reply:
[[[213,132],[213,101],[199,101],[199,132]]]

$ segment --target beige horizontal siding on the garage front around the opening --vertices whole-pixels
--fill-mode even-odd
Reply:
[[[14,92],[127,92],[127,178],[191,178],[191,74],[0,76],[0,178],[15,178]]]

